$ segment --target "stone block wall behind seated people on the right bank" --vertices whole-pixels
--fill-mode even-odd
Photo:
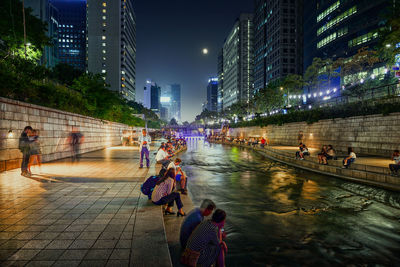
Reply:
[[[400,113],[321,120],[313,124],[297,122],[263,128],[233,128],[229,135],[264,136],[271,145],[296,146],[299,131],[303,132],[304,143],[314,148],[331,144],[337,151],[345,153],[351,146],[359,154],[385,157],[389,157],[394,149],[400,149]]]

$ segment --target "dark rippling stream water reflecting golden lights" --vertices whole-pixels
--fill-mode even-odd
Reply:
[[[181,158],[193,203],[227,212],[227,266],[400,266],[400,193],[204,141]]]

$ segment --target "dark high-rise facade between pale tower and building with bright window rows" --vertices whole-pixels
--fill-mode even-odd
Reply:
[[[303,0],[256,0],[254,90],[303,74]]]

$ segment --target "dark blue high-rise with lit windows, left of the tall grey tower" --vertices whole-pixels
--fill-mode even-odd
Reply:
[[[59,14],[58,61],[86,69],[86,1],[53,0]]]

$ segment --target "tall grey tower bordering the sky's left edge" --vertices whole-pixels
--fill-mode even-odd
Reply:
[[[87,0],[87,67],[110,89],[135,100],[136,16],[133,0]]]

